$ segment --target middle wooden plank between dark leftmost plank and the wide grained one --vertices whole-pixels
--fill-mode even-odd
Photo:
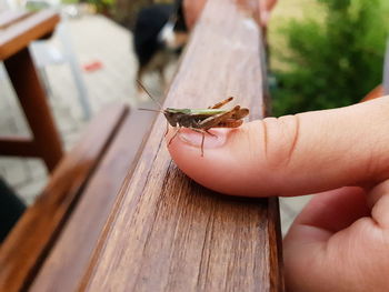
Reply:
[[[154,118],[156,113],[133,111],[126,119],[29,291],[77,291]]]

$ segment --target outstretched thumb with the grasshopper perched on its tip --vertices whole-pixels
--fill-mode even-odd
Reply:
[[[347,108],[267,118],[167,141],[198,183],[237,195],[297,195],[367,185],[389,175],[389,97]]]

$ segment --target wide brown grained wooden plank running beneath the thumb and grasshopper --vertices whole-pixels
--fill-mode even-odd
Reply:
[[[202,108],[233,95],[251,119],[262,118],[257,16],[235,0],[209,0],[166,104]],[[159,117],[79,290],[282,291],[277,199],[196,184],[170,160],[164,127]]]

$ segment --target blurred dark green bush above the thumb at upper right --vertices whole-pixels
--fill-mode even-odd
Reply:
[[[356,103],[382,80],[387,0],[317,1],[322,19],[282,28],[287,70],[276,72],[276,115]]]

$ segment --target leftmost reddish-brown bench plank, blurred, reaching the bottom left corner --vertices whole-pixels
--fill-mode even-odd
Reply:
[[[98,115],[19,220],[0,249],[0,291],[29,285],[127,113],[116,104]]]

